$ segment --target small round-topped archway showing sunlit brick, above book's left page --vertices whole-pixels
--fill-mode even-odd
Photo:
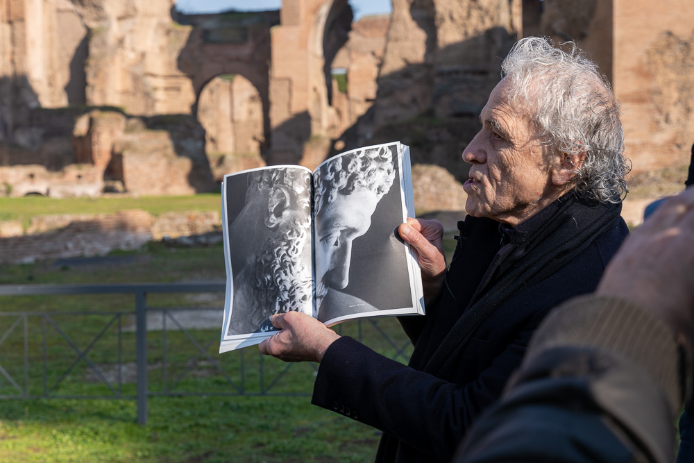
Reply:
[[[251,81],[241,74],[215,76],[199,93],[196,109],[215,180],[265,165],[266,117],[260,92]]]

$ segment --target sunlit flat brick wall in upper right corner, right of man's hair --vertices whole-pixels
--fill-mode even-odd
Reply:
[[[694,2],[614,0],[613,85],[634,171],[688,164],[694,143]]]

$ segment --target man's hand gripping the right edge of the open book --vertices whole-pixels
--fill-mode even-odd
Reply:
[[[446,278],[446,257],[443,255],[443,226],[438,220],[407,217],[398,227],[400,237],[412,246],[422,270],[424,303],[430,303],[441,292]]]

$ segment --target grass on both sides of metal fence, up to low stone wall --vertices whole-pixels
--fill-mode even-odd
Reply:
[[[106,267],[56,267],[53,262],[1,265],[0,284],[33,283],[132,283],[176,282],[183,280],[223,280],[225,269],[221,245],[194,249],[169,248],[153,243],[130,256],[130,264]],[[171,307],[181,304],[186,295],[151,297],[150,306]],[[194,298],[186,305],[196,305]],[[209,301],[201,305],[209,305]],[[22,296],[0,298],[0,312],[47,311],[72,342],[85,349],[105,325],[108,316],[61,317],[59,312],[107,312],[132,310],[131,297],[112,296]],[[31,318],[31,317],[30,317]],[[124,320],[126,323],[126,320]],[[379,326],[407,343],[395,319],[379,319]],[[0,339],[8,330],[8,317],[0,317]],[[42,349],[40,326],[29,330],[30,393],[42,394]],[[339,327],[355,334],[354,324]],[[368,326],[366,327],[368,328]],[[368,331],[368,329],[366,330]],[[223,369],[238,382],[239,364],[244,358],[246,391],[257,392],[260,385],[258,364],[263,362],[267,385],[280,375],[287,364],[257,353],[257,347],[219,355],[219,329],[194,330],[194,336],[209,346],[210,355],[219,358]],[[365,332],[365,337],[369,336]],[[113,348],[115,328],[94,344],[87,357],[103,367],[116,363]],[[373,348],[392,355],[393,348],[373,337]],[[121,339],[123,362],[134,362],[134,333]],[[150,390],[163,389],[161,332],[148,338]],[[190,366],[189,340],[180,332],[167,332],[168,387]],[[13,378],[22,378],[22,330],[15,330],[0,344],[0,365]],[[409,353],[409,351],[408,351]],[[57,382],[76,353],[50,327],[46,335],[49,361],[46,382],[57,386],[52,394],[104,394],[108,389],[98,381],[88,381],[90,369],[78,362],[69,375]],[[204,359],[203,359],[204,360]],[[402,360],[402,359],[401,359]],[[291,364],[283,373],[273,394],[294,396],[152,396],[149,421],[137,425],[135,400],[119,399],[0,399],[0,461],[7,462],[364,462],[373,460],[379,432],[361,423],[310,404],[315,377],[312,364]],[[56,383],[57,382],[57,383]],[[234,389],[210,365],[199,362],[192,373],[180,380],[174,392],[233,392]],[[0,395],[17,391],[0,374]],[[121,394],[135,395],[135,382],[126,381]]]

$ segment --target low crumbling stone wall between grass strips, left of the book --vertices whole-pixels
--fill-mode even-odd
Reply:
[[[139,249],[164,237],[199,235],[221,228],[218,212],[144,210],[115,214],[55,214],[34,217],[24,232],[17,221],[0,222],[0,263],[31,263]]]

